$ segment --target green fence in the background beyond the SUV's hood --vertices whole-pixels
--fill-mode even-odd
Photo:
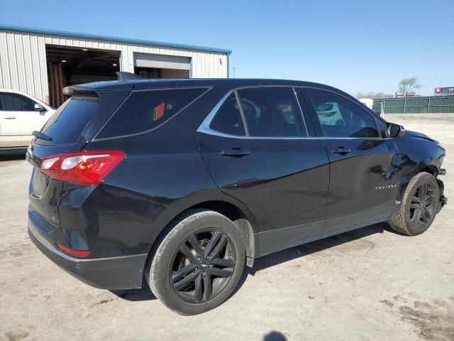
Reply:
[[[382,114],[454,113],[454,96],[374,99],[372,110]]]

